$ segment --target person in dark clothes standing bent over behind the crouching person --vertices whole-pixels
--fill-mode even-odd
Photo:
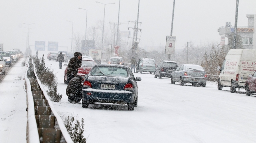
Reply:
[[[74,57],[69,60],[69,65],[67,67],[67,84],[69,81],[75,77],[78,73],[78,68],[82,66],[82,53],[75,52]]]

